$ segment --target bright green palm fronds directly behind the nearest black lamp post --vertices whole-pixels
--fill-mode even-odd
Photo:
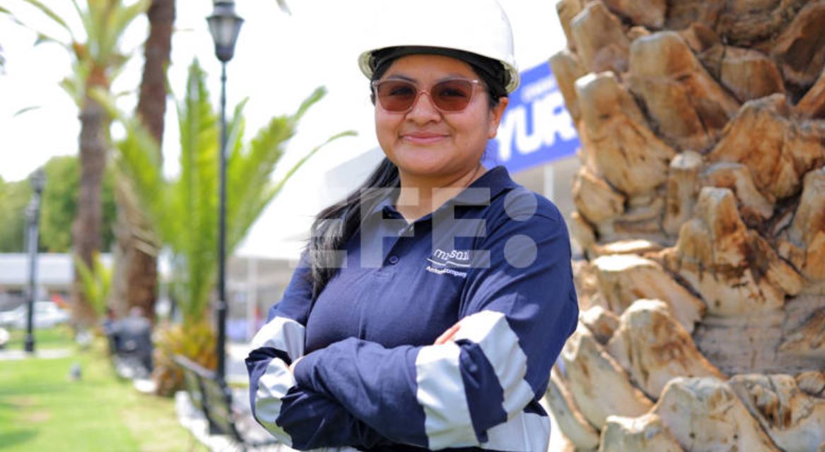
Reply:
[[[119,167],[132,181],[155,232],[172,255],[171,287],[187,324],[204,318],[218,263],[220,124],[205,77],[197,61],[193,62],[186,92],[177,103],[181,130],[178,177],[163,177],[157,144],[138,120],[123,120],[127,138],[118,146]],[[271,181],[297,121],[324,93],[323,88],[315,90],[294,115],[272,118],[248,143],[243,139],[246,101],[234,109],[227,134],[228,254],[304,162],[324,144],[353,134],[344,132],[328,139],[301,158],[281,181]]]

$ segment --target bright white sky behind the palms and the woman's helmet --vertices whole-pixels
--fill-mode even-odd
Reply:
[[[44,2],[61,16],[73,16],[71,2]],[[296,173],[253,225],[239,247],[241,254],[294,254],[295,244],[283,238],[295,237],[323,207],[319,204],[319,177],[378,145],[369,85],[356,63],[358,54],[370,47],[370,5],[375,2],[380,0],[292,0],[288,2],[291,14],[287,15],[275,0],[236,0],[237,12],[245,22],[235,56],[227,67],[227,106],[232,111],[239,101],[249,98],[245,109],[247,137],[271,117],[294,112],[315,87],[328,89],[327,97],[301,121],[275,178],[333,134],[344,130],[358,134],[329,144]],[[552,54],[563,49],[565,40],[555,11],[556,0],[499,2],[510,19],[516,61],[522,70],[546,64]],[[181,95],[186,68],[192,59],[198,59],[209,74],[208,87],[217,105],[220,65],[205,21],[211,11],[209,0],[177,2],[168,78],[172,92]],[[24,21],[66,36],[34,10],[22,8],[19,12]],[[146,31],[147,22],[142,16],[122,41],[121,49],[134,54],[112,86],[113,92],[124,92],[118,101],[123,111],[134,111]],[[58,45],[34,46],[35,39],[35,33],[0,18],[0,46],[6,59],[6,71],[0,74],[0,177],[5,181],[27,177],[55,155],[77,153],[78,109],[58,85],[70,73],[71,59]],[[113,132],[115,136],[119,133],[117,129]],[[175,149],[179,136],[176,106],[170,97],[163,143],[164,171],[169,176],[177,172]]]

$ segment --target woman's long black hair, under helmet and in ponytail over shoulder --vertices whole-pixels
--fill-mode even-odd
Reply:
[[[501,97],[507,97],[507,90],[504,89],[505,71],[496,60],[461,50],[424,47],[395,47],[375,52],[375,72],[370,80],[370,95],[373,94],[371,82],[380,79],[396,59],[407,54],[443,54],[468,63],[486,85],[491,110],[498,105]],[[375,97],[370,98],[375,104]],[[361,186],[343,200],[318,213],[310,228],[306,249],[312,268],[310,277],[313,300],[318,299],[318,294],[342,266],[337,251],[341,250],[361,227],[361,210],[370,210],[383,200],[386,195],[383,189],[400,186],[398,167],[390,162],[389,158],[384,157]]]

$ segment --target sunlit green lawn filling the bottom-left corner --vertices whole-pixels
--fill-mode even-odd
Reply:
[[[44,346],[50,334],[43,334]],[[75,363],[82,378],[71,381]],[[67,358],[0,361],[0,450],[207,449],[177,422],[171,398],[139,393],[130,380],[119,379],[97,340],[91,350]]]

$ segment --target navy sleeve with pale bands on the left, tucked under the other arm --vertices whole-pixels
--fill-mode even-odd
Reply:
[[[278,440],[298,450],[386,443],[337,401],[295,383],[289,365],[304,355],[311,295],[309,266],[300,266],[252,339],[246,359],[252,415]]]

